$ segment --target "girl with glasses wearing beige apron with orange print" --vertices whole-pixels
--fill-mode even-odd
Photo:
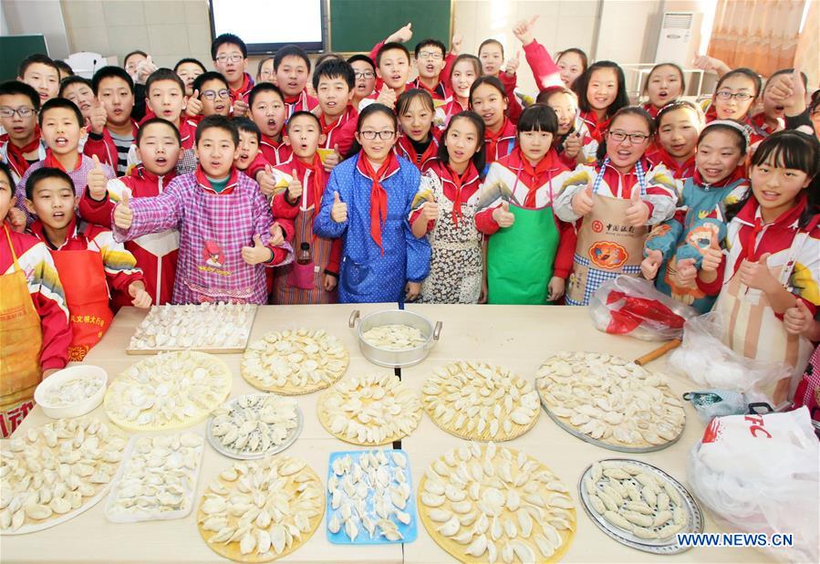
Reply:
[[[655,123],[629,106],[613,116],[598,162],[579,164],[555,199],[555,214],[577,222],[577,244],[566,303],[586,306],[605,280],[638,277],[648,226],[675,213],[677,186],[662,164],[644,156]]]

